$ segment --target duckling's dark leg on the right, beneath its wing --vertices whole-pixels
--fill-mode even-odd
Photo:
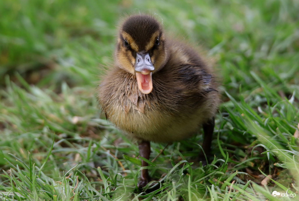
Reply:
[[[202,165],[206,165],[208,163],[208,161],[206,161],[205,159],[205,154],[206,156],[210,155],[214,126],[215,126],[214,117],[211,118],[207,123],[204,123],[202,125],[204,130],[204,141],[202,143],[202,149],[204,150],[204,153],[201,153],[199,155],[199,160],[202,160]]]

